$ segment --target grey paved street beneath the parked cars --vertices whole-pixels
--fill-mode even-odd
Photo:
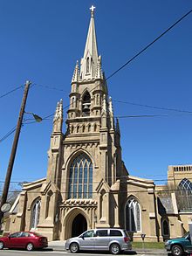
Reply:
[[[38,256],[40,254],[47,254],[47,255],[54,255],[54,256],[60,256],[60,255],[74,255],[72,253],[68,252],[60,252],[60,251],[53,251],[52,249],[47,250],[41,250],[41,251],[34,251],[34,252],[26,252],[24,250],[3,250],[1,251],[1,256]],[[111,255],[110,253],[78,253],[76,255],[86,255],[86,256],[102,256],[102,255]],[[142,253],[142,252],[128,252],[128,253],[122,253],[120,255],[140,255],[140,256],[151,256],[151,255],[159,255],[158,253]],[[161,253],[161,255],[168,256],[168,253]],[[43,255],[42,255],[43,256]]]

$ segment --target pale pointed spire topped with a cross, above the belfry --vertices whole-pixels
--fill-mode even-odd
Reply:
[[[84,51],[84,57],[81,59],[80,76],[82,80],[93,80],[96,77],[98,69],[98,49],[97,40],[94,25],[94,9],[92,6],[91,20],[89,24],[89,30],[86,38],[86,47]]]

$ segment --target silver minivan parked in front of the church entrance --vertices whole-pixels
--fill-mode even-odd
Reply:
[[[78,253],[79,250],[92,250],[118,254],[121,251],[131,250],[132,246],[127,231],[103,228],[88,230],[79,237],[66,240],[65,249],[70,250],[71,253]]]

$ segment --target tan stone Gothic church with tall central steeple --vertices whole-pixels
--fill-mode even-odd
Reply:
[[[172,182],[162,186],[129,175],[98,53],[94,7],[90,9],[84,55],[72,75],[66,131],[60,100],[53,119],[47,175],[24,184],[10,209],[6,231],[37,231],[49,240],[69,239],[95,227],[120,227],[138,241],[141,233],[146,234],[146,241],[182,235],[190,215],[181,217],[177,208],[173,187],[180,183],[175,184],[174,178],[180,171],[182,183],[183,179],[190,183],[192,167],[170,167]]]

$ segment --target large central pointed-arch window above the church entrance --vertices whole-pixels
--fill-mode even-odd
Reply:
[[[86,154],[80,154],[73,161],[69,173],[68,198],[93,197],[93,164]]]

